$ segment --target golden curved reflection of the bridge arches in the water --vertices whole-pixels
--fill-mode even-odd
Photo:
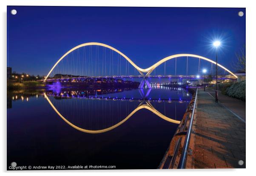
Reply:
[[[99,129],[99,130],[90,130],[90,129],[83,129],[80,128],[79,126],[76,126],[74,124],[72,124],[70,121],[68,121],[58,110],[57,108],[52,104],[51,100],[48,98],[48,96],[46,95],[46,93],[44,93],[46,100],[48,101],[48,103],[51,105],[51,107],[53,108],[53,110],[60,116],[60,118],[62,118],[68,125],[72,126],[74,129],[77,129],[81,132],[86,132],[86,133],[91,133],[91,134],[98,134],[98,133],[103,133],[103,132],[107,132],[110,131],[112,129],[117,128],[118,126],[120,126],[121,124],[123,124],[125,121],[127,121],[129,118],[131,118],[132,115],[134,115],[134,113],[136,113],[138,110],[141,109],[147,109],[150,110],[152,113],[158,115],[160,118],[164,119],[165,121],[174,123],[174,124],[179,124],[180,121],[174,120],[172,118],[168,118],[165,115],[163,115],[162,113],[160,113],[159,111],[157,111],[149,102],[146,102],[146,104],[139,104],[139,106],[134,109],[126,118],[124,118],[122,121],[120,121],[119,123],[110,126],[108,128],[105,129]]]

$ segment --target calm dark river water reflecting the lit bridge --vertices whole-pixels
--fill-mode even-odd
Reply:
[[[190,99],[182,88],[9,93],[7,163],[155,169]]]

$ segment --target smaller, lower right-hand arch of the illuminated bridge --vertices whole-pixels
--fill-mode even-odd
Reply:
[[[203,56],[200,56],[200,55],[193,55],[193,54],[176,54],[176,55],[170,55],[166,58],[163,58],[162,60],[159,60],[157,63],[155,63],[153,66],[151,67],[148,67],[147,69],[143,69],[143,72],[146,72],[146,76],[148,76],[149,74],[151,74],[152,71],[154,71],[154,69],[156,69],[156,67],[158,67],[159,65],[161,65],[162,63],[166,62],[167,60],[171,60],[173,58],[179,58],[179,57],[193,57],[193,58],[200,58],[200,59],[203,59],[203,60],[207,60],[208,62],[211,62],[213,64],[216,65],[216,62],[209,59],[209,58],[205,58]],[[224,66],[222,66],[221,64],[217,64],[217,66],[221,67],[222,69],[228,71],[230,74],[232,74],[234,77],[237,78],[237,76],[232,72],[230,71],[229,69],[225,68]]]

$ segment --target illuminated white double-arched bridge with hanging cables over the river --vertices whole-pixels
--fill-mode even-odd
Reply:
[[[95,58],[96,59],[92,59],[92,55],[94,54],[92,52],[92,46],[96,46],[96,54],[95,54]],[[61,65],[61,62],[63,61],[63,59],[65,57],[68,57],[69,54],[71,54],[72,52],[78,50],[78,54],[77,54],[77,57],[80,57],[81,56],[81,51],[80,49],[83,48],[83,47],[90,47],[89,48],[89,59],[88,60],[88,63],[86,65],[86,63],[76,63],[76,67],[85,67],[85,74],[87,74],[86,76],[89,76],[90,77],[114,77],[114,78],[133,78],[133,77],[141,77],[143,78],[143,81],[142,81],[142,85],[144,85],[144,83],[147,83],[148,84],[148,81],[146,80],[146,78],[148,77],[157,77],[157,78],[160,78],[160,77],[163,77],[163,78],[189,78],[188,77],[188,58],[198,58],[199,59],[199,66],[198,66],[198,74],[199,74],[199,71],[200,71],[200,60],[205,60],[205,61],[208,61],[209,63],[211,63],[211,71],[213,70],[213,65],[216,65],[216,62],[209,59],[209,58],[206,58],[206,57],[203,57],[203,56],[200,56],[200,55],[194,55],[194,54],[176,54],[176,55],[170,55],[168,57],[165,57],[161,60],[159,60],[158,62],[156,62],[154,65],[146,68],[146,69],[142,69],[140,68],[139,66],[137,66],[130,58],[128,58],[128,56],[126,56],[125,54],[123,54],[122,52],[120,52],[119,50],[117,50],[116,48],[114,47],[111,47],[107,44],[102,44],[102,43],[97,43],[97,42],[89,42],[89,43],[84,43],[84,44],[80,44],[74,48],[72,48],[71,50],[69,50],[68,52],[66,52],[59,60],[57,60],[57,62],[54,64],[54,66],[51,68],[51,70],[48,72],[47,76],[45,77],[44,81],[46,81],[48,79],[48,77],[50,76],[50,74],[52,72],[54,72],[54,69],[58,66],[58,64]],[[102,54],[102,63],[99,62],[99,58],[100,58],[100,54],[99,54],[99,47],[103,47],[103,54]],[[109,49],[111,52],[110,52],[110,55],[109,56],[106,56],[106,48]],[[105,50],[104,50],[105,49]],[[97,53],[98,52],[98,53]],[[104,55],[104,52],[105,52],[105,55]],[[114,64],[114,53],[113,52],[116,52],[118,54],[117,56],[117,64]],[[84,49],[84,54],[83,54],[86,58],[86,50]],[[105,62],[104,62],[104,56],[105,56]],[[109,64],[110,66],[107,68],[106,67],[106,64],[107,64],[107,61],[106,61],[106,57],[109,57],[110,60],[109,60]],[[125,74],[121,74],[122,73],[122,69],[121,69],[121,66],[122,66],[122,60],[121,60],[121,57],[124,58],[122,60],[124,60],[126,63],[125,63]],[[186,75],[187,76],[180,76],[176,74],[176,60],[177,58],[184,58],[186,57],[187,59],[187,63],[186,63]],[[90,60],[91,58],[91,60]],[[112,58],[112,60],[111,60]],[[72,59],[74,60],[74,55],[71,55],[71,61]],[[168,75],[166,74],[166,68],[165,68],[165,63],[168,61],[168,60],[172,60],[172,59],[175,59],[175,75]],[[84,60],[82,60],[82,62],[84,62]],[[63,64],[63,63],[62,63]],[[70,63],[68,63],[70,64]],[[93,64],[95,64],[95,66],[93,66]],[[111,66],[112,64],[112,66]],[[139,75],[127,75],[129,74],[129,64],[132,65],[134,67],[134,72],[135,70],[138,71]],[[152,75],[152,72],[153,71],[156,71],[156,68],[159,67],[160,65],[164,64],[164,74],[158,74],[158,75]],[[73,68],[73,71],[75,70],[75,64],[72,64],[71,65],[74,65],[74,68]],[[127,66],[128,65],[128,66]],[[100,66],[102,67],[100,69]],[[233,79],[236,79],[237,76],[232,72],[230,71],[229,69],[225,68],[224,66],[222,66],[221,64],[217,63],[217,66],[222,68],[225,73],[228,73],[230,74],[231,76],[233,76]],[[83,69],[83,68],[82,68]],[[117,69],[117,72],[114,74],[114,69]],[[68,68],[68,71],[72,70],[72,67],[71,69]],[[91,72],[90,72],[91,71]],[[84,74],[84,73],[82,73]],[[95,74],[95,75],[94,75]],[[97,75],[96,75],[97,74]],[[190,77],[191,78],[191,77]],[[150,85],[149,85],[150,87]]]

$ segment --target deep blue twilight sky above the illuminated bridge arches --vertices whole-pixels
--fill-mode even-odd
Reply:
[[[20,73],[46,75],[65,52],[91,41],[117,48],[141,68],[179,53],[215,60],[216,39],[219,63],[235,71],[245,8],[8,6],[7,34],[7,65]]]

